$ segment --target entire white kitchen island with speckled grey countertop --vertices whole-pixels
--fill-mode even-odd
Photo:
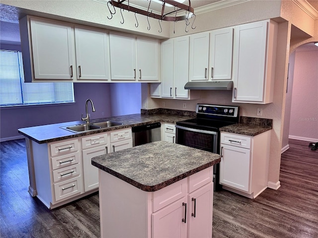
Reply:
[[[101,237],[212,237],[218,154],[157,141],[92,158]]]

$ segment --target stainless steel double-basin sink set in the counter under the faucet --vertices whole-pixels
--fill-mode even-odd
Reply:
[[[102,128],[108,128],[108,127],[117,126],[117,125],[123,125],[123,123],[112,121],[112,120],[106,120],[106,121],[95,122],[95,123],[84,123],[84,124],[76,124],[76,125],[69,125],[69,126],[61,126],[60,128],[63,128],[75,133],[80,133],[80,132],[86,132],[91,130],[98,130]]]

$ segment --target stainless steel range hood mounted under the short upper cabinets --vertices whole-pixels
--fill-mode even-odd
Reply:
[[[187,82],[184,89],[232,90],[233,81]]]

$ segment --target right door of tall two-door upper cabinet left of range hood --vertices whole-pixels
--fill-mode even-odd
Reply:
[[[174,97],[188,98],[189,90],[184,85],[189,81],[189,37],[180,37],[174,40],[173,57]]]

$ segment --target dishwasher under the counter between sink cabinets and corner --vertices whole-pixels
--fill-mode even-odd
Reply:
[[[133,146],[161,140],[161,123],[133,126]]]

